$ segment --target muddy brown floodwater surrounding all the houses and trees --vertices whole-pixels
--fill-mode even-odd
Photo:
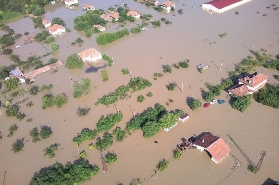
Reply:
[[[129,7],[144,14],[152,14],[153,20],[164,17],[172,24],[162,23],[160,28],[152,28],[149,24],[146,27],[147,31],[130,34],[105,46],[95,43],[96,35],[91,38],[86,38],[82,32],[77,32],[77,36],[75,35],[73,19],[77,15],[85,13],[82,12],[81,5],[88,3],[88,1],[81,0],[80,8],[77,11],[67,9],[60,4],[46,6],[44,18],[51,20],[54,17],[61,17],[66,22],[66,27],[69,27],[72,32],[61,38],[55,38],[60,50],[42,58],[44,63],[47,63],[51,57],[65,61],[69,54],[79,53],[85,48],[92,47],[93,44],[101,53],[113,57],[115,64],[112,67],[108,67],[105,62],[93,67],[85,65],[82,70],[69,70],[62,66],[58,68],[57,73],[49,71],[36,78],[37,82],[33,85],[53,84],[53,89],[49,92],[54,95],[65,92],[69,96],[69,102],[61,108],[52,107],[42,110],[41,97],[46,92],[40,92],[36,96],[26,94],[24,97],[28,97],[28,101],[34,103],[32,107],[26,107],[26,103],[20,104],[20,110],[28,116],[27,118],[20,122],[2,114],[0,124],[0,131],[3,135],[0,140],[0,182],[4,181],[6,171],[4,185],[28,184],[33,174],[40,168],[50,166],[55,162],[65,164],[67,161],[73,162],[78,159],[79,152],[76,145],[73,145],[72,138],[84,127],[94,129],[100,116],[116,113],[114,105],[105,107],[103,105],[95,106],[94,103],[102,95],[129,82],[130,76],[122,75],[122,68],[131,68],[132,77],[141,76],[146,78],[153,83],[153,86],[134,93],[129,99],[120,100],[116,103],[116,106],[124,115],[123,120],[116,126],[125,128],[126,122],[132,118],[133,115],[129,105],[132,109],[135,109],[135,113],[140,113],[147,107],[153,107],[155,103],[160,103],[168,111],[180,109],[189,113],[190,119],[183,123],[179,122],[169,132],[161,131],[149,139],[142,137],[141,131],[136,131],[125,138],[123,142],[115,142],[113,146],[108,148],[108,151],[117,153],[118,161],[108,165],[107,173],[102,172],[100,152],[88,149],[88,144],[95,143],[95,141],[82,143],[80,150],[86,151],[87,159],[91,164],[100,167],[100,172],[92,177],[91,181],[83,183],[84,185],[118,183],[126,185],[133,178],[140,178],[143,184],[152,185],[209,185],[222,182],[222,179],[225,179],[231,173],[231,168],[235,165],[234,158],[229,155],[215,164],[206,152],[201,153],[197,149],[186,151],[183,153],[181,160],[171,161],[164,172],[154,174],[155,167],[160,159],[171,160],[172,150],[181,142],[181,138],[189,138],[202,132],[211,132],[213,135],[218,135],[225,142],[229,141],[227,134],[230,134],[255,164],[258,163],[263,150],[268,152],[260,171],[253,174],[246,169],[248,164],[246,159],[230,142],[232,155],[242,165],[219,184],[261,185],[268,178],[279,181],[277,170],[279,166],[278,109],[264,106],[252,100],[252,104],[244,113],[232,109],[227,102],[222,105],[214,104],[206,109],[200,107],[196,111],[190,111],[186,101],[191,97],[202,99],[200,88],[206,89],[205,82],[219,84],[221,78],[228,78],[228,71],[233,70],[236,63],[250,55],[249,49],[252,48],[254,42],[254,50],[259,51],[260,48],[265,48],[273,56],[279,54],[279,11],[266,8],[271,4],[279,6],[279,2],[276,0],[254,0],[221,15],[210,15],[202,11],[200,5],[204,2],[206,1],[182,0],[182,4],[185,4],[185,6],[182,6],[180,2],[175,2],[176,11],[166,14],[158,13],[151,7],[146,7],[139,2],[126,0],[125,3]],[[123,1],[94,0],[90,3],[98,9],[106,10],[109,6],[121,5]],[[182,15],[177,13],[179,8],[183,9],[184,13]],[[239,15],[236,15],[234,11],[238,11]],[[259,14],[256,13],[257,11]],[[263,14],[268,14],[268,16],[264,17]],[[141,20],[135,23],[128,22],[127,26],[135,27],[137,23],[141,23]],[[28,31],[30,35],[43,30],[33,29],[32,20],[29,18],[20,19],[7,25],[14,29],[16,33]],[[108,23],[107,32],[116,31],[119,28],[118,25],[117,23]],[[227,32],[228,35],[220,38],[218,34],[224,32]],[[5,32],[0,32],[0,34],[3,35]],[[77,37],[85,40],[82,46],[70,46],[71,42]],[[23,45],[23,43],[23,38],[18,39],[15,45],[21,45],[21,47],[13,49],[13,52],[19,54],[22,59],[32,55],[42,56],[46,52],[50,52],[47,44],[33,42]],[[157,81],[153,80],[153,73],[162,72],[162,65],[171,65],[184,59],[190,60],[188,69],[173,69],[171,74],[165,74]],[[224,60],[222,70],[219,70],[222,60]],[[0,65],[10,65],[11,63],[7,56],[0,55]],[[195,67],[201,63],[210,65],[203,74],[200,74]],[[108,69],[110,73],[107,82],[102,82],[100,76],[101,70],[104,68]],[[278,83],[272,77],[272,75],[278,74],[278,71],[264,69],[263,67],[256,70],[269,76],[269,83]],[[90,94],[74,99],[69,74],[72,75],[74,81],[81,78],[90,78],[92,80]],[[172,81],[177,82],[179,86],[184,82],[183,92],[179,88],[168,91],[165,86]],[[94,89],[93,86],[97,86],[98,89]],[[20,85],[20,88],[24,87],[30,87],[30,85]],[[152,92],[153,97],[147,98],[142,103],[136,101],[137,95],[145,95],[148,92]],[[228,94],[224,91],[218,99],[227,100],[227,96]],[[174,102],[166,106],[169,98],[173,99]],[[14,103],[17,101],[20,101],[20,99],[15,99]],[[5,102],[4,97],[1,97],[1,102]],[[203,103],[205,102],[203,101]],[[90,107],[90,114],[78,117],[76,110],[79,106]],[[4,113],[2,107],[1,111]],[[30,117],[33,118],[33,122],[27,123],[26,120]],[[12,137],[8,138],[8,128],[13,123],[16,123],[19,129],[14,132]],[[50,126],[53,135],[46,140],[32,143],[29,131],[34,127],[39,128],[41,125]],[[109,132],[111,133],[112,130]],[[12,143],[21,137],[24,137],[25,141],[29,141],[25,142],[23,151],[12,153]],[[155,144],[154,140],[158,143]],[[43,149],[54,143],[60,143],[60,147],[63,149],[56,152],[55,158],[48,159],[43,155]],[[152,174],[154,175],[151,176]]]

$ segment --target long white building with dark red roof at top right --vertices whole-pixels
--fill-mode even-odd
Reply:
[[[201,8],[210,13],[220,14],[250,1],[252,0],[213,0],[202,4]]]

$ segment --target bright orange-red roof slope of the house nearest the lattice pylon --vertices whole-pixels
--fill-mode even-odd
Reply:
[[[221,161],[226,157],[232,150],[228,147],[222,138],[219,138],[213,145],[207,148],[207,151],[215,159],[216,162]]]

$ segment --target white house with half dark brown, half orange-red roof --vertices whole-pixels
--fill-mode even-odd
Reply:
[[[211,160],[215,163],[224,159],[232,150],[228,147],[221,137],[212,134],[204,134],[193,142],[193,146],[201,152],[206,150],[211,155]]]

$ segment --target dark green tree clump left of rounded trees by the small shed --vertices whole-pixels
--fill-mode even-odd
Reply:
[[[156,105],[155,108],[149,107],[139,115],[133,117],[126,124],[127,130],[138,130],[144,126],[148,121],[156,121],[157,117],[160,116],[166,108],[160,104]]]

